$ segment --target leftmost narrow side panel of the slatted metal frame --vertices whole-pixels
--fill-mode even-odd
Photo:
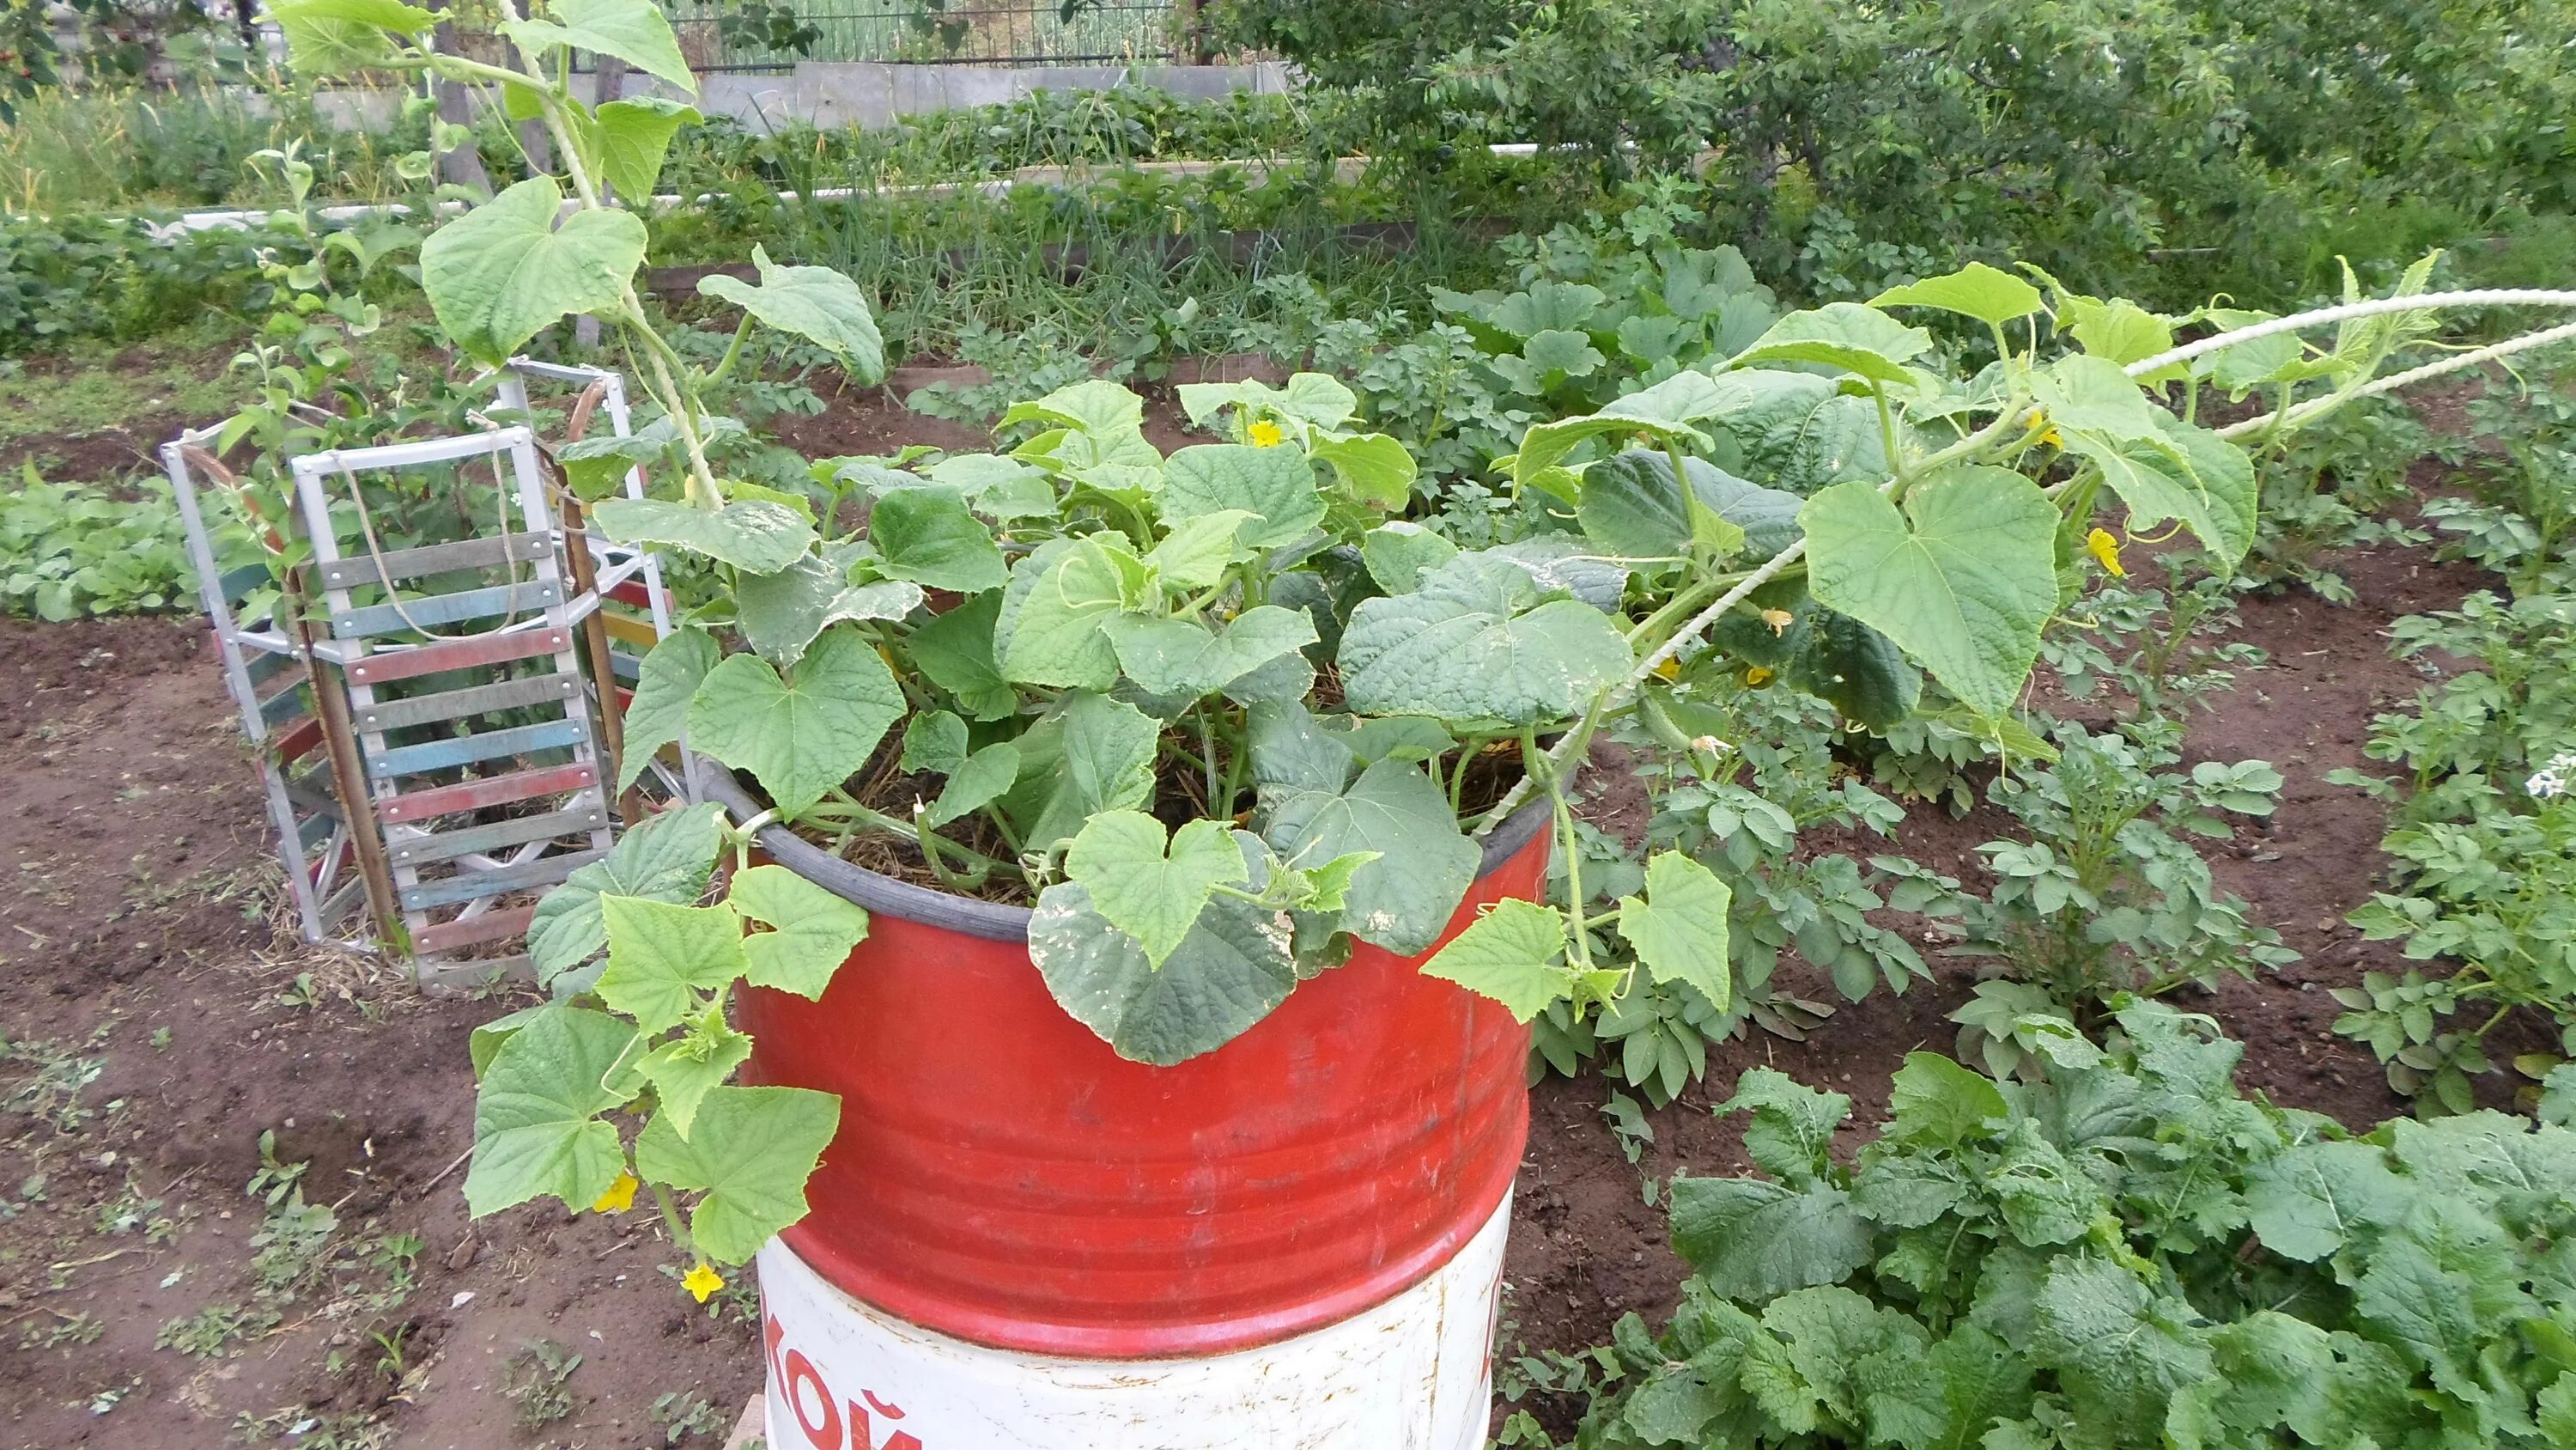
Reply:
[[[348,796],[330,752],[322,716],[322,690],[314,680],[304,636],[296,628],[296,598],[278,590],[265,561],[224,572],[214,554],[214,533],[198,497],[198,474],[232,487],[232,474],[216,461],[222,428],[196,428],[162,443],[162,469],[178,500],[188,533],[188,561],[196,567],[198,598],[214,628],[224,664],[224,690],[242,713],[242,739],[250,744],[268,796],[268,827],[276,832],[286,894],[296,907],[296,935],[312,945],[337,943],[368,950],[366,873],[358,840],[348,827]],[[250,518],[252,528],[276,528]],[[283,543],[273,536],[273,543]]]

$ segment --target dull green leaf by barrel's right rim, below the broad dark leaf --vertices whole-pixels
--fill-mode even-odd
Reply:
[[[1345,786],[1350,747],[1314,731],[1311,719],[1301,726],[1301,708],[1270,706],[1275,713],[1257,719],[1262,840],[1293,865],[1378,852],[1350,878],[1342,930],[1396,956],[1430,950],[1476,883],[1484,852],[1417,762],[1378,760]]]

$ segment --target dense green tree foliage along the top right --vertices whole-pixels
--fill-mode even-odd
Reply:
[[[1226,0],[1226,31],[1352,93],[1355,134],[1708,147],[1757,263],[2012,237],[2084,286],[2182,252],[2308,281],[2334,250],[2558,209],[2563,0]],[[2342,221],[2336,221],[2342,219]]]

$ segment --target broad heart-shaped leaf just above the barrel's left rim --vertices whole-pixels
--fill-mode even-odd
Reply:
[[[708,670],[688,706],[688,734],[696,749],[750,770],[793,816],[858,773],[904,708],[904,688],[876,649],[835,628],[796,664],[793,683],[757,654]]]

